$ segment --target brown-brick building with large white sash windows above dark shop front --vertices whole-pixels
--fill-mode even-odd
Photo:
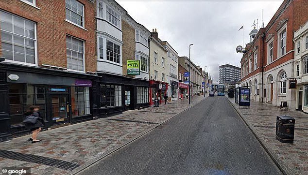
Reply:
[[[0,141],[28,131],[30,105],[51,128],[97,117],[95,8],[91,0],[0,1]]]

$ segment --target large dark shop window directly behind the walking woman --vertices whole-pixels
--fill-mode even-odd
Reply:
[[[29,84],[9,84],[11,126],[22,124],[29,106],[40,107],[41,117],[46,120],[45,87]]]

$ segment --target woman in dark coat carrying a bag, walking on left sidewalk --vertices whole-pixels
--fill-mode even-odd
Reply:
[[[26,128],[32,131],[32,137],[28,139],[28,141],[32,141],[32,143],[41,141],[41,140],[37,140],[36,137],[38,135],[38,132],[42,130],[41,127],[43,127],[45,124],[38,110],[39,110],[39,106],[30,106],[28,111],[24,113],[26,117],[27,116],[38,117],[36,123],[34,124],[26,123],[25,124]]]

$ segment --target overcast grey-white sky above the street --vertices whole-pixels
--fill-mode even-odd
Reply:
[[[273,17],[283,0],[116,0],[138,23],[157,29],[158,37],[191,60],[206,67],[213,82],[218,81],[219,65],[240,67],[236,46],[249,43],[254,20],[261,27]]]

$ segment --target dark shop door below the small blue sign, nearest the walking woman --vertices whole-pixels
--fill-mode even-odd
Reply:
[[[69,123],[68,95],[51,95],[52,125]]]

